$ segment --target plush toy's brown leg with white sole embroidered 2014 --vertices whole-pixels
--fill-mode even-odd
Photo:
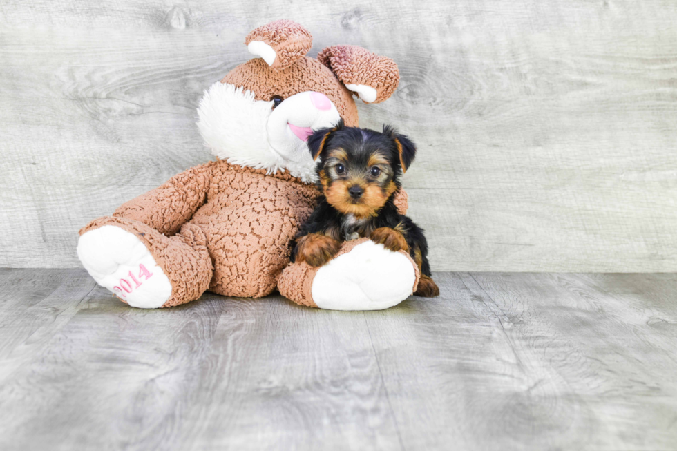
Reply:
[[[196,300],[213,273],[207,239],[194,224],[167,238],[143,222],[99,218],[80,231],[77,256],[99,285],[145,309]]]

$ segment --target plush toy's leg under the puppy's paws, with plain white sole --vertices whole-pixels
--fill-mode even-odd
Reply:
[[[280,294],[301,305],[331,310],[381,310],[416,289],[419,269],[404,251],[367,238],[343,243],[326,265],[289,265],[278,278]]]

